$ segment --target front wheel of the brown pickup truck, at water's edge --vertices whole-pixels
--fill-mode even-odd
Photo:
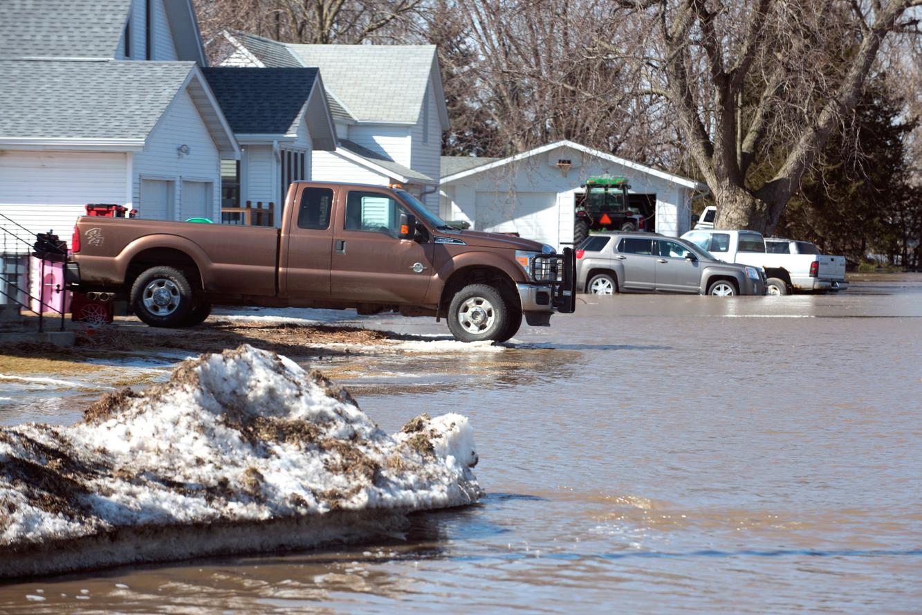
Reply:
[[[462,342],[500,340],[508,333],[508,321],[509,309],[502,295],[486,284],[469,284],[459,290],[448,308],[448,329]]]

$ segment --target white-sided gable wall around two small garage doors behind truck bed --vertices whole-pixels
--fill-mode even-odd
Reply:
[[[189,147],[189,153],[179,155],[178,148]],[[134,187],[132,191],[138,215],[148,218],[144,203],[140,201],[141,178],[170,180],[176,190],[174,202],[179,214],[182,210],[183,180],[210,182],[220,185],[220,161],[218,148],[208,133],[207,126],[195,108],[187,91],[176,95],[167,111],[154,128],[144,151],[135,154]],[[210,215],[207,218],[220,219],[219,190],[211,191]]]

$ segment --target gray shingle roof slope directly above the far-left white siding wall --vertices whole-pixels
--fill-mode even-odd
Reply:
[[[145,139],[194,66],[0,60],[0,137]]]

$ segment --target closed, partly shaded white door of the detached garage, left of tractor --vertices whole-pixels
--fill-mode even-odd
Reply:
[[[478,192],[476,205],[478,231],[517,232],[526,239],[557,245],[555,192]]]

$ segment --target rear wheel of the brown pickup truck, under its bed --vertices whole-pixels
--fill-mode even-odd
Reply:
[[[169,266],[150,267],[131,287],[131,306],[150,326],[182,326],[193,296],[183,272]]]

